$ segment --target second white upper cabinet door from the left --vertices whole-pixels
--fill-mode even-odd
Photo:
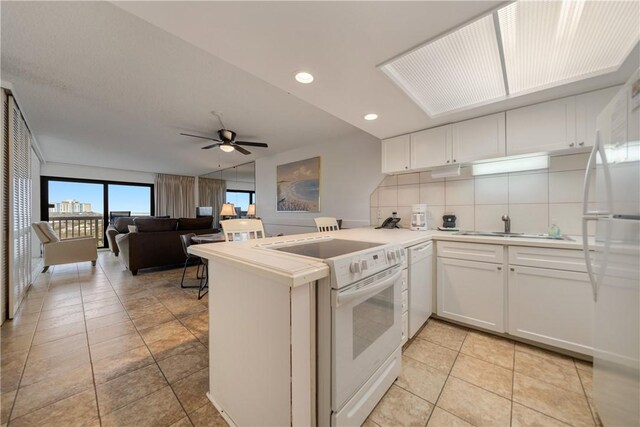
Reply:
[[[451,156],[451,125],[411,134],[411,168],[442,166],[453,161]]]

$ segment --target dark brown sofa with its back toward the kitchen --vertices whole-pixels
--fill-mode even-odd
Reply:
[[[120,259],[134,276],[141,268],[183,264],[182,234],[211,234],[211,218],[135,218],[135,231],[115,236]]]

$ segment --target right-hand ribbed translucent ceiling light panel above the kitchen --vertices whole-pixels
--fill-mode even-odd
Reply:
[[[615,71],[640,32],[637,1],[519,1],[497,15],[510,95]]]

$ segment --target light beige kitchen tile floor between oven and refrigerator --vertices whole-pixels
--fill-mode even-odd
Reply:
[[[594,426],[590,363],[431,319],[365,423]]]

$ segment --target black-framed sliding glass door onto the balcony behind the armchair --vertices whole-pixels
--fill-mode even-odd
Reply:
[[[104,248],[110,220],[153,215],[153,184],[42,177],[40,188],[42,220],[63,240],[90,236]]]

